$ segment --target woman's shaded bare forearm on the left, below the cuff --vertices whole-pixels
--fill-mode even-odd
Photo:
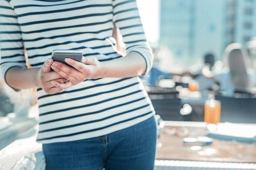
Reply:
[[[6,73],[6,82],[9,86],[17,89],[38,87],[38,71],[40,68],[26,69],[12,67]]]

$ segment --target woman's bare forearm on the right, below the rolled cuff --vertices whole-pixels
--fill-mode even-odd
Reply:
[[[146,61],[137,52],[131,52],[125,57],[101,63],[100,75],[107,77],[132,77],[143,75],[146,71]]]

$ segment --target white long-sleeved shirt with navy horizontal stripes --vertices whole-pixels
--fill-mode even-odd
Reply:
[[[14,66],[41,67],[54,49],[80,49],[99,61],[122,57],[112,37],[120,29],[126,52],[142,54],[152,66],[135,0],[0,0],[1,75]],[[48,95],[38,89],[38,142],[98,137],[154,115],[141,79],[100,78]]]

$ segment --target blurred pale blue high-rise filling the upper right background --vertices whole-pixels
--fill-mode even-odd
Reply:
[[[255,0],[161,0],[159,44],[185,66],[256,36]]]

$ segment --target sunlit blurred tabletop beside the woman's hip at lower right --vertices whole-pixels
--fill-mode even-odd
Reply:
[[[209,146],[184,146],[184,137],[205,136],[207,124],[164,123],[156,147],[155,169],[256,169],[256,143],[214,139]]]

